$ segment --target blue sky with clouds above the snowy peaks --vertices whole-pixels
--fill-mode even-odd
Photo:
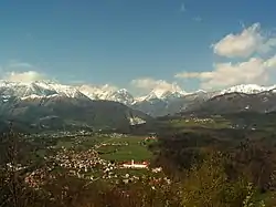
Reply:
[[[187,92],[276,84],[273,0],[2,0],[0,77]]]

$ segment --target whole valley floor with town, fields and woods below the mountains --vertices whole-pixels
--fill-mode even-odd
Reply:
[[[168,117],[158,121],[156,133],[145,135],[8,134],[0,145],[4,157],[0,189],[12,200],[10,184],[17,180],[23,190],[20,195],[39,194],[38,204],[56,207],[61,203],[275,206],[275,120],[273,114],[243,113]],[[20,151],[9,152],[14,146]]]

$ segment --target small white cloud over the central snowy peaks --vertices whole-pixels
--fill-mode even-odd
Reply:
[[[181,87],[176,82],[169,83],[164,80],[155,80],[150,77],[132,80],[131,85],[145,92],[149,92],[155,89],[163,91],[181,91]]]

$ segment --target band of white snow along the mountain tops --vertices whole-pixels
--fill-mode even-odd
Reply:
[[[195,100],[198,97],[204,97],[203,100],[211,99],[216,95],[225,93],[246,93],[255,94],[261,92],[276,92],[276,85],[265,87],[256,84],[242,84],[232,86],[222,91],[205,92],[197,91],[194,93],[187,93],[179,87],[171,89],[153,89],[150,93],[141,97],[134,97],[126,89],[118,90],[108,84],[102,86],[95,85],[64,85],[51,81],[35,81],[32,83],[10,82],[0,81],[0,95],[1,96],[17,96],[20,99],[40,99],[40,97],[54,97],[54,96],[66,96],[66,97],[89,97],[91,100],[108,100],[114,102],[120,102],[126,105],[137,105],[144,102],[152,102],[160,104],[159,102],[171,103],[174,100]]]

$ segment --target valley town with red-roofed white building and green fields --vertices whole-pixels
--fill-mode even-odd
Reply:
[[[34,135],[31,136],[30,139],[34,142],[39,138],[41,142],[43,141],[42,137],[44,136]],[[158,174],[162,172],[161,167],[150,166],[150,155],[147,155],[149,154],[147,148],[148,144],[157,141],[155,135],[134,137],[118,133],[100,134],[78,132],[72,134],[52,134],[51,138],[54,141],[64,139],[64,142],[57,142],[56,145],[46,147],[51,153],[50,155],[44,155],[43,159],[47,163],[49,167],[36,169],[30,173],[25,178],[25,182],[32,187],[39,188],[39,186],[44,183],[43,179],[53,178],[52,172],[57,169],[65,170],[70,176],[75,176],[81,179],[109,179],[115,183],[119,180],[128,183],[129,180],[134,182],[139,179],[139,173],[135,173],[138,170],[144,170],[147,174]],[[47,137],[49,141],[51,141],[51,138]],[[126,153],[126,149],[131,149],[131,147],[140,148],[137,153],[146,152],[146,155],[142,157],[142,154],[132,154],[134,152],[130,154],[128,154],[128,152]],[[116,159],[116,153],[120,154],[124,152],[125,155]],[[130,173],[125,169],[132,170]]]

